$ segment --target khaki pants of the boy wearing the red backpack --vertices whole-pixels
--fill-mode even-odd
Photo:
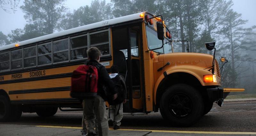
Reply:
[[[84,99],[83,108],[83,130],[87,130],[89,136],[108,136],[108,119],[105,101],[98,95],[93,99]],[[95,121],[97,122],[95,123]],[[86,129],[84,126],[86,126]]]

